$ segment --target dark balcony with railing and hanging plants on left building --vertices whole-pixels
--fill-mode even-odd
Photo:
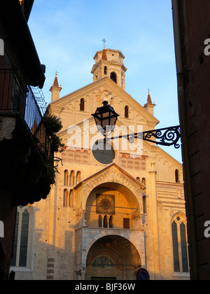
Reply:
[[[45,124],[45,109],[41,90],[31,87],[20,70],[0,69],[0,187],[8,189],[13,183],[16,195],[20,191],[17,205],[45,199],[53,183],[57,145]]]

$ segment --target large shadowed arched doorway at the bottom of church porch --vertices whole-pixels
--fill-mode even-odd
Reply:
[[[107,235],[94,242],[86,263],[87,280],[135,280],[141,258],[129,240]]]

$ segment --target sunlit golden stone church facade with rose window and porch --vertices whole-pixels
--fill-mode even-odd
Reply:
[[[16,279],[136,280],[140,268],[151,280],[189,279],[181,163],[150,142],[104,142],[92,117],[106,100],[120,115],[114,136],[158,125],[150,93],[141,106],[125,92],[124,58],[98,51],[93,83],[64,97],[55,77],[48,110],[65,149],[47,200],[18,207]]]

